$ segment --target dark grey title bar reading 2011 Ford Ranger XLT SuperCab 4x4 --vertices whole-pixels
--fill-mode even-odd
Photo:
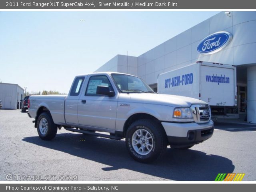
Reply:
[[[0,9],[255,9],[253,0],[1,0]]]

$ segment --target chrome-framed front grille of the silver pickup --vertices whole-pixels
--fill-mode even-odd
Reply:
[[[194,104],[191,107],[196,123],[206,123],[211,119],[211,109],[207,104]]]

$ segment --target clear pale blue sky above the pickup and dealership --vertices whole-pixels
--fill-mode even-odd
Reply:
[[[139,56],[218,12],[0,12],[0,81],[68,93],[77,74]]]

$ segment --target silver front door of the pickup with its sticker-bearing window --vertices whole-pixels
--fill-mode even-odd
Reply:
[[[106,75],[92,75],[86,90],[78,100],[78,122],[83,126],[114,130],[118,94],[109,97],[96,94],[97,86],[108,86],[114,91],[113,84]]]

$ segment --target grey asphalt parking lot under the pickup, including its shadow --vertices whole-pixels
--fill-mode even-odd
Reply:
[[[202,144],[190,150],[168,148],[162,159],[142,164],[129,156],[124,140],[62,129],[54,140],[43,141],[32,120],[20,110],[0,110],[0,180],[6,181],[7,174],[15,180],[13,174],[19,174],[25,180],[213,181],[218,173],[232,172],[256,180],[255,125],[216,122],[214,135]]]

